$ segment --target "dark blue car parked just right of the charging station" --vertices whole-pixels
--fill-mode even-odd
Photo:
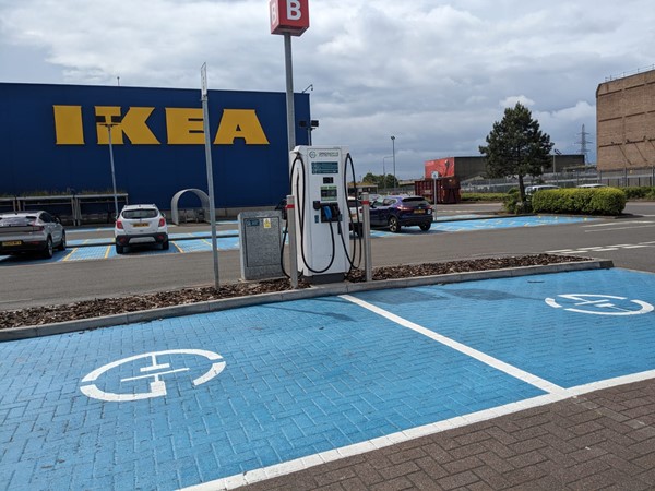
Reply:
[[[410,226],[427,231],[432,226],[432,207],[422,196],[379,196],[371,203],[370,217],[371,227],[389,227],[394,233]]]

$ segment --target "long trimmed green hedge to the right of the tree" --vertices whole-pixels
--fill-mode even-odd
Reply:
[[[616,216],[626,207],[626,193],[615,188],[557,189],[536,192],[532,208],[535,213]]]

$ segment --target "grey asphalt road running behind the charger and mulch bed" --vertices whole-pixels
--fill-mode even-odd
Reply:
[[[499,204],[487,203],[443,205],[438,215],[493,213],[499,208]],[[631,202],[626,213],[632,216],[534,228],[376,239],[371,242],[373,266],[557,251],[609,259],[618,267],[655,273],[655,203]],[[221,252],[218,263],[221,283],[239,280],[238,251]],[[0,310],[213,284],[211,252],[14,264],[0,267]]]

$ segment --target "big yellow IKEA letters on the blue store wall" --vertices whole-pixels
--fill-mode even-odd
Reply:
[[[109,143],[108,130],[102,121],[110,121],[112,116],[121,117],[118,106],[96,106],[96,141],[99,145]],[[52,106],[57,145],[84,145],[82,106]],[[124,137],[132,145],[160,145],[147,124],[155,111],[153,107],[130,107],[111,128],[111,143],[122,145]],[[169,145],[204,144],[202,109],[165,108],[166,143]],[[214,137],[215,145],[234,145],[241,139],[247,145],[269,145],[261,122],[254,109],[224,109]]]

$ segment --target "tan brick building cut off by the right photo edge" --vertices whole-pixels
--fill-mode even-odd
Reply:
[[[600,171],[655,166],[655,70],[602,83],[596,89]]]

